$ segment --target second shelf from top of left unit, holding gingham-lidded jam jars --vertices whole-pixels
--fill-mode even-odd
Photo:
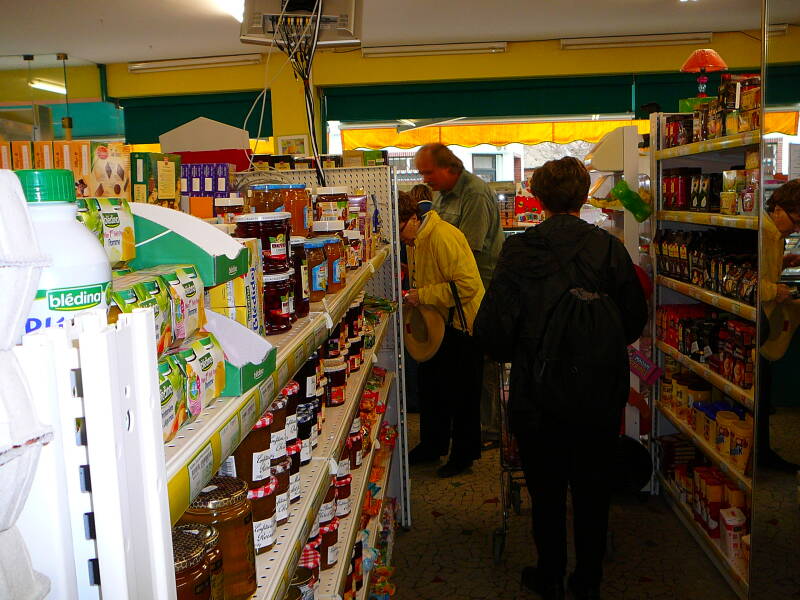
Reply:
[[[331,459],[337,459],[350,433],[350,425],[358,411],[361,393],[372,371],[373,356],[377,353],[386,333],[389,318],[382,319],[375,332],[375,346],[364,355],[361,370],[347,382],[347,401],[325,411],[323,435],[314,451],[311,462],[300,469],[302,497],[291,506],[289,521],[277,528],[275,546],[256,556],[258,589],[257,600],[282,600],[292,579],[300,553],[308,541],[319,507],[331,481]],[[363,469],[361,469],[363,471]],[[355,482],[354,484],[355,485]],[[339,535],[341,536],[341,530]]]

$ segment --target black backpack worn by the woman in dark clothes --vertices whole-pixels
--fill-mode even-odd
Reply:
[[[619,308],[602,275],[580,257],[594,234],[583,239],[568,264],[554,252],[561,271],[552,277],[567,285],[545,315],[533,375],[545,418],[568,423],[580,415],[583,423],[615,426],[627,400],[628,355]]]

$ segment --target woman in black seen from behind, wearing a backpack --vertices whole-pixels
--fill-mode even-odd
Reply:
[[[572,493],[575,598],[597,599],[611,467],[630,388],[627,345],[647,304],[628,252],[580,209],[589,173],[572,157],[536,170],[531,191],[545,221],[503,246],[475,320],[475,336],[511,362],[510,428],[532,502],[538,562],[522,585],[564,598],[566,494]]]

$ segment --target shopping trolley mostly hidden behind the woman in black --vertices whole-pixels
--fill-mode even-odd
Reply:
[[[509,428],[508,394],[511,375],[511,364],[500,363],[500,502],[503,510],[503,526],[494,530],[492,535],[492,555],[495,564],[499,564],[506,546],[508,521],[511,510],[520,514],[522,510],[522,487],[525,476],[522,473],[522,462],[514,436]]]

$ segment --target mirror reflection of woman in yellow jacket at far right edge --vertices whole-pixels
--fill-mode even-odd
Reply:
[[[785,254],[785,239],[800,232],[800,179],[783,184],[767,200],[762,218],[761,281],[759,292],[763,310],[762,338],[758,365],[758,418],[756,460],[759,467],[794,473],[798,465],[772,449],[770,413],[772,407],[772,364],[786,354],[795,329],[800,323],[800,301],[791,296],[791,288],[780,283],[784,269],[800,266],[800,256]]]

